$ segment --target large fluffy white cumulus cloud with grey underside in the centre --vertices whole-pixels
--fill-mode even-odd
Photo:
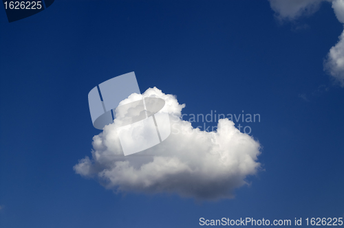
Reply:
[[[137,100],[132,94],[127,101]],[[171,119],[171,135],[162,143],[134,155],[123,156],[116,124],[105,126],[93,138],[92,157],[81,159],[74,170],[96,179],[115,192],[171,193],[201,200],[233,198],[237,187],[256,174],[260,144],[240,133],[228,119],[219,119],[217,131],[193,128],[182,120],[184,104],[157,88],[143,98],[164,99]]]

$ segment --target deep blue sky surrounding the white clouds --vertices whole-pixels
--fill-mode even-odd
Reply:
[[[1,9],[0,227],[343,217],[344,88],[323,71],[342,31],[329,3],[283,24],[252,0],[55,1],[13,23]],[[264,170],[217,202],[114,194],[75,174],[100,133],[87,94],[131,71],[141,92],[177,95],[183,113],[259,113]]]

